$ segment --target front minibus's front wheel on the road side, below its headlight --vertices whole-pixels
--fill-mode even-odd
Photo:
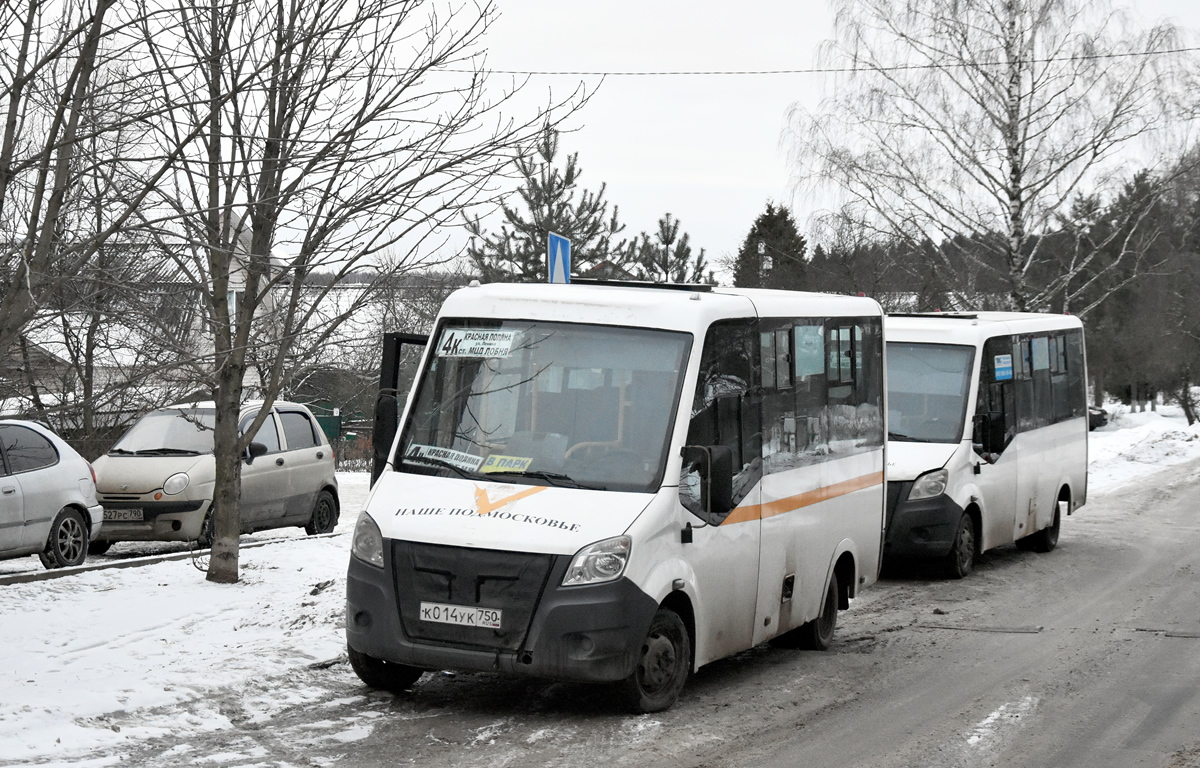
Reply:
[[[670,709],[691,672],[688,626],[670,608],[659,608],[637,654],[634,673],[617,684],[626,709],[635,714]]]

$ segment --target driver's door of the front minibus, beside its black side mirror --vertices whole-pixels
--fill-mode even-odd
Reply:
[[[762,478],[756,322],[721,320],[708,329],[691,403],[688,445],[733,452],[733,510],[706,517],[680,478],[680,500],[703,522],[685,547],[696,580],[696,662],[752,646],[758,588],[758,498]],[[686,474],[686,468],[685,468]],[[704,524],[707,523],[707,524]]]

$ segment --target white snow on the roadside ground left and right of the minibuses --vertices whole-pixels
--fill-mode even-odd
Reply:
[[[1200,456],[1200,425],[1178,408],[1109,410],[1109,426],[1091,433],[1093,499]],[[0,587],[0,764],[118,764],[131,742],[227,728],[206,706],[218,689],[257,697],[263,720],[319,698],[283,678],[344,652],[349,534],[368,475],[340,473],[338,485],[337,534],[242,550],[236,586],[206,582],[185,559]],[[244,540],[264,536],[278,532]]]

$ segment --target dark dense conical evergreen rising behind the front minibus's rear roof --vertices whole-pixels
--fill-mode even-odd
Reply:
[[[733,284],[739,288],[808,289],[808,242],[786,208],[767,203],[755,220],[733,263]]]

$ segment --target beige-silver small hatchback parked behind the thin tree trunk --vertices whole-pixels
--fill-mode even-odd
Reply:
[[[242,406],[242,430],[262,407],[262,402]],[[152,410],[96,460],[104,530],[92,544],[92,553],[114,541],[209,544],[215,425],[211,402]],[[242,533],[299,526],[318,534],[337,526],[334,449],[305,406],[275,401],[244,462]]]

